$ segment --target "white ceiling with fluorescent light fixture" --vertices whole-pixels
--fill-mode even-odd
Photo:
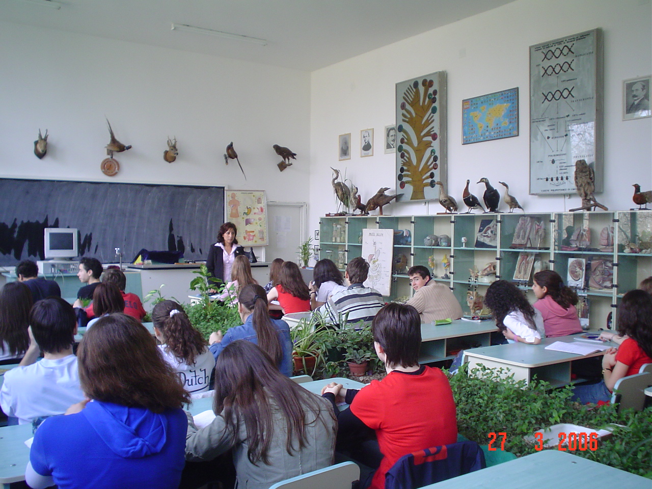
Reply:
[[[514,0],[57,1],[59,10],[0,0],[2,20],[310,72]],[[267,45],[173,31],[172,23]]]

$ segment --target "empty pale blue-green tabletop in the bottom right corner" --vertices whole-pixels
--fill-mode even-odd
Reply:
[[[651,481],[567,452],[544,450],[421,489],[649,489]]]

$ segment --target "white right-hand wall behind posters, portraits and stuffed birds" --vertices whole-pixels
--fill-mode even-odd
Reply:
[[[519,0],[312,72],[309,228],[334,212],[331,169],[346,170],[366,201],[394,187],[394,155],[383,128],[394,123],[394,84],[445,70],[448,77],[448,188],[462,209],[466,179],[509,183],[528,212],[565,211],[577,196],[529,196],[529,46],[589,29],[604,33],[604,193],[610,210],[629,209],[632,183],[652,186],[652,119],[625,121],[622,81],[652,72],[649,0]],[[520,88],[520,136],[462,145],[462,99]],[[359,156],[360,130],[374,128],[374,156]],[[338,134],[351,132],[351,160],[338,162]],[[502,189],[502,188],[501,188]],[[471,185],[478,196],[484,185]],[[394,215],[434,214],[439,203],[400,203]]]

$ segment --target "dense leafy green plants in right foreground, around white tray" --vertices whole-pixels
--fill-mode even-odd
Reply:
[[[652,408],[627,410],[618,414],[614,406],[587,408],[571,402],[571,387],[552,389],[547,382],[505,379],[502,369],[484,366],[467,375],[466,366],[451,376],[451,388],[457,405],[460,434],[487,445],[491,432],[505,432],[505,450],[524,456],[536,452],[524,436],[557,423],[572,423],[588,428],[616,427],[614,435],[600,441],[596,451],[573,451],[601,464],[652,479]],[[610,429],[613,427],[610,427]],[[500,449],[501,437],[493,447]]]

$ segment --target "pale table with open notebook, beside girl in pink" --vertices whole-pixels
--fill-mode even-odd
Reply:
[[[514,380],[532,381],[534,376],[537,379],[550,382],[553,387],[563,387],[573,383],[571,380],[571,363],[574,360],[597,357],[603,355],[603,351],[591,353],[590,355],[579,355],[577,353],[565,353],[545,349],[546,346],[556,342],[573,343],[576,336],[558,336],[557,338],[544,338],[538,345],[525,343],[514,343],[507,345],[494,345],[482,348],[471,348],[464,352],[464,362],[469,364],[469,370],[483,364],[492,369],[503,368],[502,376],[507,377],[514,374]],[[588,345],[587,342],[580,342]],[[604,346],[617,345],[612,342],[605,342]],[[577,379],[580,381],[582,379]]]

